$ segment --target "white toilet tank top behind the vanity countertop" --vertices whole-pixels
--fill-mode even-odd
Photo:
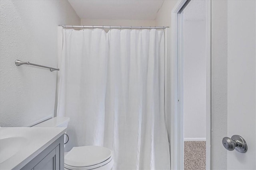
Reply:
[[[68,127],[69,117],[53,117],[33,127]]]

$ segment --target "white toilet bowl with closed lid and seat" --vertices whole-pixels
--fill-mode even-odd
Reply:
[[[100,146],[73,147],[64,157],[64,167],[72,170],[90,170],[112,160],[112,151]]]

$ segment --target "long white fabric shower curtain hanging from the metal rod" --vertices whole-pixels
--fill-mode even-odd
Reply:
[[[115,170],[170,169],[164,113],[164,31],[63,29],[57,116],[66,150],[99,145]]]

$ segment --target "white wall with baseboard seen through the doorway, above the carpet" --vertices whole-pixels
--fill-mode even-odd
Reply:
[[[184,9],[184,140],[206,140],[206,2]]]

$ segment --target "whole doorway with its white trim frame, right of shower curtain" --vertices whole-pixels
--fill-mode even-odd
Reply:
[[[210,169],[210,5],[207,0],[181,0],[172,10],[170,142],[174,170]],[[185,142],[187,152],[184,138],[189,141]]]

